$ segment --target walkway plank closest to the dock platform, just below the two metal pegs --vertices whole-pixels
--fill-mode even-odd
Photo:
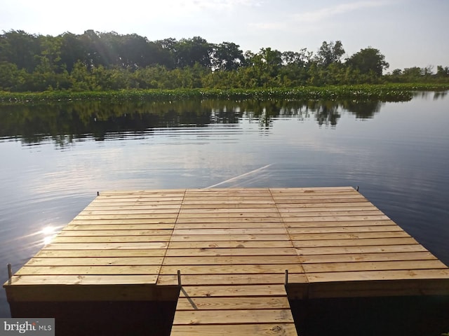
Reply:
[[[180,297],[253,297],[283,296],[283,284],[272,285],[225,285],[225,286],[182,286]]]

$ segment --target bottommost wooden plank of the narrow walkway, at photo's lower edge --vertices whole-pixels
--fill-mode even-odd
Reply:
[[[297,336],[295,323],[173,325],[170,336],[279,335]]]

